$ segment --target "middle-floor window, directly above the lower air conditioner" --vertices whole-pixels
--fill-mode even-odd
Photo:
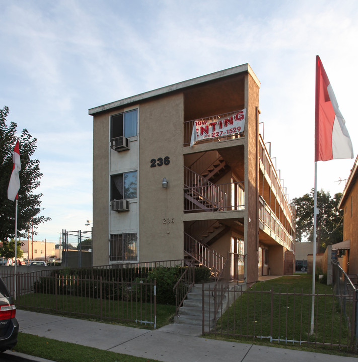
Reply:
[[[137,197],[137,171],[111,176],[111,201]]]

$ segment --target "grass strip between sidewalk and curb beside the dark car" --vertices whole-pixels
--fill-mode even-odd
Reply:
[[[110,352],[98,348],[86,347],[75,343],[61,342],[55,339],[19,333],[15,351],[56,362],[155,362],[156,359],[135,357]],[[158,362],[158,361],[157,361]]]

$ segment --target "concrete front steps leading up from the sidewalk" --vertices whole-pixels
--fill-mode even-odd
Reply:
[[[210,330],[214,327],[214,299],[211,295],[212,289],[215,283],[204,284],[204,324],[205,330]],[[246,290],[246,284],[232,284],[229,286],[229,290]],[[229,303],[228,303],[229,295]],[[239,296],[239,293],[236,297]],[[219,312],[216,315],[217,320],[221,317],[221,314],[227,310],[229,306],[234,302],[234,293],[226,293],[223,298],[222,306],[219,308]],[[188,294],[187,299],[184,300],[183,306],[179,308],[178,315],[174,317],[174,323],[186,323],[192,325],[202,325],[202,284],[195,284],[191,292]]]

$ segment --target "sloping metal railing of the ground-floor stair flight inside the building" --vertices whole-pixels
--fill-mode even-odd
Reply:
[[[184,251],[196,261],[209,268],[215,277],[222,272],[227,261],[225,256],[195,240],[187,233],[184,233]]]

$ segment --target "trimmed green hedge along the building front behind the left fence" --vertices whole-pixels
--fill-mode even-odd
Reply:
[[[149,268],[64,268],[54,270],[52,276],[41,277],[34,283],[37,293],[55,294],[54,276],[63,277],[57,285],[57,294],[79,297],[118,299],[123,301],[147,300],[153,291],[147,286],[156,280],[157,303],[175,305],[173,288],[186,266],[160,266]],[[100,278],[102,283],[100,284]],[[205,283],[210,279],[210,269],[195,267],[195,283]],[[102,288],[100,288],[102,286]]]

